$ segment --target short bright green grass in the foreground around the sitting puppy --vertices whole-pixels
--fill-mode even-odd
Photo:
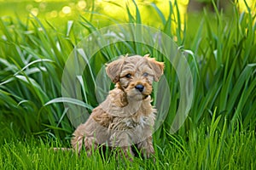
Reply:
[[[1,169],[254,169],[256,167],[255,132],[230,134],[216,127],[218,121],[188,132],[188,138],[168,135],[161,143],[154,139],[154,159],[137,157],[134,161],[116,156],[103,157],[102,152],[87,157],[72,151],[54,151],[63,146],[59,140],[13,139],[0,146]],[[46,140],[47,141],[47,140]],[[67,145],[66,145],[67,146]]]

